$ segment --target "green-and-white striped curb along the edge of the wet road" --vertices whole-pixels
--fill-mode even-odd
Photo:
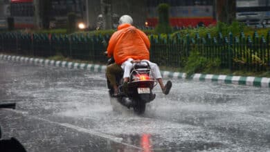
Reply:
[[[50,59],[39,59],[33,57],[20,57],[13,55],[1,55],[0,59],[11,60],[11,61],[21,61],[28,64],[44,65],[44,66],[57,66],[81,70],[90,70],[91,72],[105,73],[107,66],[102,66],[98,64],[80,64],[72,61],[55,61]],[[172,78],[172,79],[186,79],[186,73],[177,73],[170,71],[161,71],[162,77]],[[262,88],[270,88],[270,78],[269,77],[242,77],[242,76],[231,76],[231,75],[204,75],[200,73],[195,73],[191,75],[190,78],[195,81],[200,82],[217,82],[219,84],[238,84],[246,86],[258,86]]]

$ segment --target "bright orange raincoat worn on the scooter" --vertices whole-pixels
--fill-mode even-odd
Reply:
[[[129,23],[118,26],[109,39],[107,48],[108,57],[114,55],[116,64],[122,64],[128,58],[150,59],[150,41],[144,32]]]

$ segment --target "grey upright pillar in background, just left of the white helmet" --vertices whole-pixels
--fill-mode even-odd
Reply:
[[[111,21],[111,0],[100,0],[101,12],[103,17],[103,29],[108,30],[112,28]]]

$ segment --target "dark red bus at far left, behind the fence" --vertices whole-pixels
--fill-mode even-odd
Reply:
[[[11,0],[10,16],[14,17],[15,28],[34,28],[33,0]]]

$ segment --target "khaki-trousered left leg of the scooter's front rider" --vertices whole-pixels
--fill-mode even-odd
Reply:
[[[120,75],[122,71],[123,71],[122,68],[116,63],[107,66],[106,76],[111,86],[113,86],[114,88],[115,87],[117,88],[116,75]]]

